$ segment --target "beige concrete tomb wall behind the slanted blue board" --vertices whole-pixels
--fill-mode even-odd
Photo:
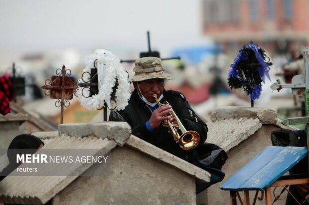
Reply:
[[[230,177],[232,177],[237,171],[239,171],[243,166],[245,166],[250,160],[252,160],[256,155],[258,155],[262,150],[268,146],[271,146],[271,132],[278,128],[279,127],[276,125],[264,124],[262,128],[260,128],[248,139],[229,150],[227,153],[228,160],[222,167],[223,172],[225,172],[225,178],[222,182],[217,183],[208,189],[208,205],[227,205],[230,203],[229,192],[221,190],[220,186],[224,184]],[[278,195],[280,191],[281,189],[277,189],[276,194]],[[250,193],[250,200],[252,203],[255,191]],[[285,196],[286,194],[284,194],[281,198],[285,198]],[[274,200],[274,196],[272,196],[272,199]],[[261,202],[261,205],[265,204],[264,200]],[[260,202],[257,202],[257,204],[259,203]],[[276,202],[276,205],[284,204],[285,200],[279,200]]]

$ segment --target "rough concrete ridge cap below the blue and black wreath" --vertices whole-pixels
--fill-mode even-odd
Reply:
[[[259,119],[262,124],[276,124],[278,121],[274,110],[261,107],[226,106],[214,109],[211,115],[213,122],[240,118]]]

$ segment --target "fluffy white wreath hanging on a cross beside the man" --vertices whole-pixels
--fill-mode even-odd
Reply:
[[[130,82],[128,79],[128,73],[120,64],[120,59],[117,55],[110,51],[103,49],[96,49],[94,54],[87,57],[86,66],[83,72],[89,72],[94,67],[94,62],[98,69],[98,88],[99,92],[96,95],[88,97],[90,90],[83,87],[76,89],[76,95],[78,96],[79,102],[82,106],[87,109],[98,109],[106,105],[109,109],[122,110],[128,105],[130,99]],[[113,87],[118,79],[118,87],[116,89],[114,99],[111,99]],[[85,75],[84,79],[79,79],[78,82],[90,81],[90,75]],[[83,96],[86,96],[84,97]]]

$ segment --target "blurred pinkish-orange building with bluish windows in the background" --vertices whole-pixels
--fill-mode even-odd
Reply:
[[[308,0],[203,0],[203,32],[225,50],[250,41],[271,54],[300,51],[309,40]]]

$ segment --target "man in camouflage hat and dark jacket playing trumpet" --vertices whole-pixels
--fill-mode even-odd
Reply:
[[[140,58],[135,62],[134,71],[132,82],[135,89],[129,100],[129,105],[124,110],[112,111],[109,120],[128,122],[133,135],[204,169],[199,165],[198,161],[201,159],[196,150],[207,138],[207,125],[194,113],[181,93],[164,90],[164,79],[173,80],[174,78],[164,71],[161,59],[157,57]],[[169,104],[163,104],[165,101]],[[171,112],[174,112],[176,116],[170,115]],[[179,123],[175,118],[179,118]],[[169,124],[169,126],[162,124]],[[190,134],[183,137],[184,141],[197,143],[196,149],[194,149],[195,145],[184,149],[179,146],[177,141],[175,142],[176,139],[175,136],[172,136],[171,127],[175,127],[176,131],[180,127],[181,130],[179,124],[189,132],[195,131],[199,135],[198,139]],[[221,165],[219,169],[221,169]],[[208,185],[203,189],[223,179],[224,173],[215,170],[218,171],[215,175],[219,177],[215,180],[212,177],[210,184],[207,183]],[[197,193],[203,189],[197,188]]]

